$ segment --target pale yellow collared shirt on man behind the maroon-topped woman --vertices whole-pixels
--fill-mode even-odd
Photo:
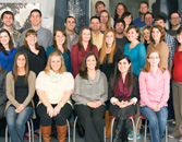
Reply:
[[[99,50],[102,46],[104,34],[99,33],[96,35],[94,32],[92,32],[92,36],[93,36],[93,44],[96,45],[97,49]]]

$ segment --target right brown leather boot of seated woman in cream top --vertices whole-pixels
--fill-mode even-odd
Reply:
[[[57,126],[58,141],[59,142],[65,142],[66,129],[68,129],[68,125],[65,125],[65,126]]]

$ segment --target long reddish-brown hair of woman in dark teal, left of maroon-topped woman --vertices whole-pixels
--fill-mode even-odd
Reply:
[[[61,32],[62,35],[65,37],[65,42],[64,42],[64,44],[63,44],[63,49],[64,49],[65,52],[68,54],[68,52],[69,52],[69,49],[68,49],[68,43],[66,43],[66,34],[65,34],[64,29],[61,28],[61,27],[57,28],[57,29],[53,32],[53,48],[54,48],[56,50],[58,50],[58,44],[57,44],[57,42],[56,42],[57,32]]]

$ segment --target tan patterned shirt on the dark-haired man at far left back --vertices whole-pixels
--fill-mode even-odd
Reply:
[[[0,28],[0,31],[3,28],[3,26]],[[12,32],[10,33],[14,47],[17,48],[20,38],[21,38],[21,33],[16,31],[15,28],[12,28]]]

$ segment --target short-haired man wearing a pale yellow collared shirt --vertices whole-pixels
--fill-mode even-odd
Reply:
[[[98,16],[92,16],[89,26],[92,28],[93,44],[97,46],[99,50],[102,46],[104,34],[100,32],[100,19]]]

